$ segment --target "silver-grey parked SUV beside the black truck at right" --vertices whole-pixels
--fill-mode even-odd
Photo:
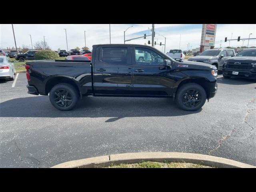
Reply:
[[[203,62],[216,66],[218,71],[222,71],[222,66],[226,59],[234,57],[236,55],[234,49],[208,49],[195,57],[188,58],[188,61]]]

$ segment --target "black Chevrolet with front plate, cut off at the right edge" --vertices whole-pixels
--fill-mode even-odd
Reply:
[[[223,78],[232,76],[256,80],[256,48],[242,50],[224,62]]]

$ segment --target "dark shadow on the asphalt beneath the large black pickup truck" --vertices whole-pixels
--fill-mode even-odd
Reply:
[[[16,98],[0,103],[0,117],[109,118],[105,122],[124,117],[181,116],[200,111],[180,110],[172,98],[84,97],[71,111],[57,110],[48,96]]]

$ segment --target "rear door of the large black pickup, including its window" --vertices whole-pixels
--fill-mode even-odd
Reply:
[[[95,53],[94,93],[131,94],[131,48],[127,46],[100,46]]]

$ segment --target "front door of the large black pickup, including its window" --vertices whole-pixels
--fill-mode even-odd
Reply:
[[[161,66],[164,57],[148,48],[132,48],[133,94],[172,96],[174,88],[174,63],[172,69]]]

